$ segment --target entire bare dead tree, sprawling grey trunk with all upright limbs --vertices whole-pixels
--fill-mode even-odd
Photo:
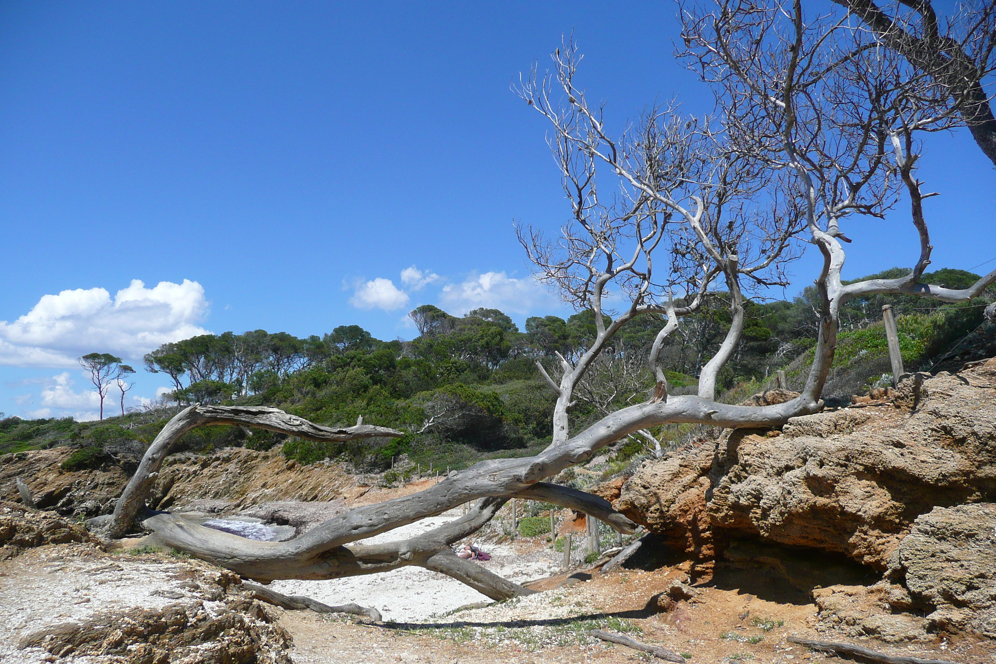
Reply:
[[[917,136],[962,121],[929,76],[904,68],[891,50],[874,49],[846,20],[806,16],[801,0],[685,6],[682,20],[684,55],[716,91],[714,117],[689,119],[672,108],[652,108],[621,138],[613,137],[603,109],[591,108],[575,84],[580,56],[573,44],[554,55],[551,77],[534,73],[519,89],[553,127],[551,146],[572,201],[572,220],[556,241],[527,229],[519,237],[538,276],[579,310],[591,311],[596,327],[573,363],[559,357],[557,380],[543,370],[558,395],[547,449],[453,471],[420,493],[358,508],[289,542],[253,542],[168,514],[146,518],[144,500],[155,474],[183,433],[218,424],[313,440],[400,432],[366,425],[329,429],[272,408],[191,406],[149,447],[106,520],[108,534],[120,537],[140,522],[164,545],[263,581],[421,565],[492,598],[525,594],[526,588],[459,558],[450,545],[476,532],[510,498],[571,508],[632,532],[634,525],[603,499],[542,480],[654,426],[775,427],[816,412],[834,358],[840,307],[849,298],[914,294],[962,302],[996,282],[996,271],[960,291],[919,281],[931,247],[920,204],[928,194],[915,179]],[[608,198],[596,187],[600,174],[613,178],[615,193]],[[842,243],[850,240],[843,227],[863,217],[883,223],[884,211],[900,195],[910,199],[920,238],[915,268],[900,279],[845,285]],[[760,407],[719,403],[716,375],[742,332],[745,297],[785,283],[784,266],[796,256],[800,232],[824,259],[816,280],[819,337],[802,393]],[[698,394],[669,395],[661,344],[720,286],[730,308],[729,331],[702,368]],[[666,321],[648,357],[652,394],[571,432],[568,412],[583,378],[627,322],[649,313]],[[475,504],[461,519],[419,537],[357,544],[470,501]]]

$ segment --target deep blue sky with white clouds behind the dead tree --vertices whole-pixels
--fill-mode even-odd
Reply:
[[[619,125],[655,99],[708,111],[671,57],[674,11],[3,3],[0,411],[90,416],[68,359],[140,363],[183,334],[357,324],[410,337],[404,314],[426,303],[520,324],[565,314],[513,233],[554,230],[568,208],[546,126],[509,86],[573,30],[585,86]],[[933,267],[996,257],[996,176],[967,134],[933,137],[920,177],[943,192],[927,201]],[[910,264],[910,230],[849,229],[847,274]],[[136,397],[165,384],[135,379]]]

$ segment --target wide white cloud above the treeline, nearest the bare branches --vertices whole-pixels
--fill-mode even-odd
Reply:
[[[558,301],[532,277],[515,279],[504,272],[471,275],[462,284],[443,287],[440,306],[450,314],[486,307],[506,314],[530,314],[558,306]]]

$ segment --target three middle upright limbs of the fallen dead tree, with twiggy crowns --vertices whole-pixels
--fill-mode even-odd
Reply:
[[[743,331],[741,279],[757,287],[787,284],[783,266],[795,258],[793,239],[803,230],[804,217],[796,200],[777,189],[761,205],[755,203],[779,174],[754,155],[731,148],[731,136],[715,126],[714,118],[682,117],[673,107],[651,108],[616,139],[606,128],[603,110],[590,108],[575,84],[581,61],[575,44],[565,43],[553,60],[552,76],[541,79],[534,70],[518,92],[553,126],[549,142],[572,201],[573,219],[557,243],[531,230],[520,229],[519,238],[537,276],[556,286],[577,309],[590,309],[598,328],[575,365],[561,358],[559,383],[544,371],[558,393],[556,444],[567,436],[567,410],[592,362],[625,323],[646,313],[668,320],[650,353],[659,398],[666,398],[666,378],[656,366],[660,345],[677,319],[697,311],[722,277],[731,325],[699,376],[699,396],[713,400],[719,369]],[[597,187],[600,169],[618,180],[618,193],[608,203]],[[612,287],[624,306],[606,326],[604,301]],[[673,301],[675,290],[684,300],[680,306]]]

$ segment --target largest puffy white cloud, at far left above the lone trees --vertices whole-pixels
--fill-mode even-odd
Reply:
[[[168,341],[205,334],[204,289],[184,279],[147,289],[137,279],[111,300],[103,288],[42,296],[13,323],[0,321],[0,365],[77,365],[88,352],[138,358]]]

